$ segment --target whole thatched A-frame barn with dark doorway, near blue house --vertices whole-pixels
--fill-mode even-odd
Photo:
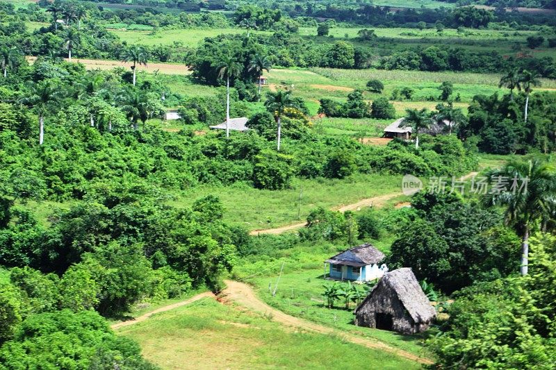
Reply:
[[[357,326],[414,334],[429,328],[436,310],[405,267],[384,274],[354,314]]]

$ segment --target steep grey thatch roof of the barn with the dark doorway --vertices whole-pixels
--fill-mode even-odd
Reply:
[[[416,323],[430,321],[436,316],[436,310],[430,305],[429,298],[425,296],[417,278],[409,267],[393,270],[384,274],[382,279],[373,287],[370,294],[361,305],[359,305],[357,310],[363,307],[368,300],[373,299],[373,293],[377,290],[379,285],[387,285],[391,287],[393,292],[398,294],[398,298],[404,305],[404,308],[409,312],[411,319]],[[355,310],[356,314],[357,310]]]

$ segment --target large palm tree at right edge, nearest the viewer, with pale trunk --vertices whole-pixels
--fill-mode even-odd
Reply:
[[[522,238],[520,272],[522,275],[526,275],[528,273],[530,233],[534,226],[539,224],[542,226],[554,217],[550,210],[556,196],[555,168],[548,162],[538,160],[512,161],[503,169],[493,171],[490,175],[494,179],[498,176],[508,178],[512,186],[514,181],[516,182],[516,187],[510,188],[510,191],[488,194],[484,198],[484,203],[507,207],[506,222],[512,224]],[[527,186],[522,188],[524,179]]]

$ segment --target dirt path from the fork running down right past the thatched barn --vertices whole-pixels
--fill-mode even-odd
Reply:
[[[226,280],[225,283],[227,285],[226,289],[224,289],[218,296],[218,301],[222,303],[233,302],[247,308],[248,310],[259,312],[259,314],[270,314],[273,321],[277,321],[286,326],[292,326],[294,328],[309,330],[320,334],[338,335],[339,337],[345,339],[347,342],[366,346],[367,348],[379,349],[381,351],[395,353],[396,355],[399,355],[403,358],[407,358],[411,361],[420,362],[421,364],[433,363],[429,359],[420,358],[417,355],[402,351],[398,348],[391,347],[388,344],[384,344],[375,339],[359,337],[358,335],[345,333],[340,330],[335,330],[334,328],[329,328],[318,323],[312,323],[311,321],[306,321],[304,319],[285,314],[280,310],[270,307],[270,305],[267,305],[259,298],[257,298],[253,289],[249,285],[231,280]]]

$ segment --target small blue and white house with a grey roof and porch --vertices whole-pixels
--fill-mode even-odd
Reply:
[[[384,275],[384,253],[373,244],[361,244],[334,255],[325,261],[329,264],[329,277],[338,280],[370,281]]]

